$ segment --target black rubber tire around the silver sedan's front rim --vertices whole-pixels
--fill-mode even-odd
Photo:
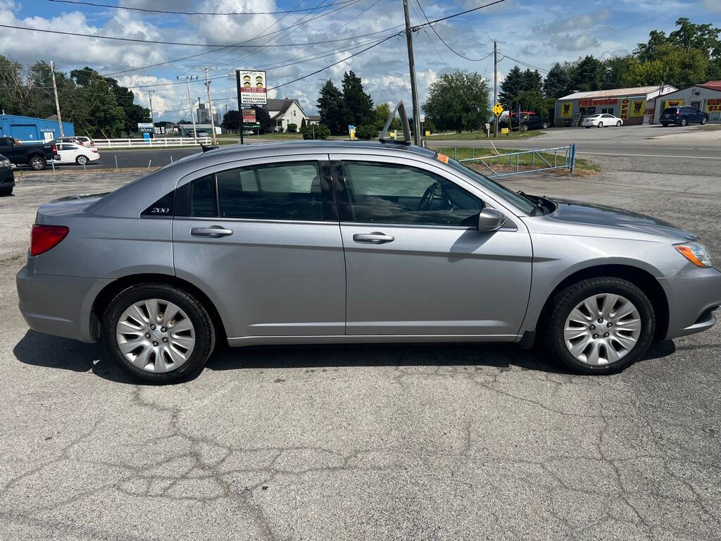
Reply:
[[[565,345],[563,330],[571,310],[588,296],[612,293],[624,296],[637,307],[641,319],[641,333],[636,345],[619,361],[611,364],[585,364],[572,356]],[[589,278],[568,286],[551,299],[551,307],[542,329],[544,344],[551,355],[562,366],[577,374],[614,374],[627,368],[646,353],[655,333],[656,320],[648,297],[633,283],[622,278],[604,276]]]

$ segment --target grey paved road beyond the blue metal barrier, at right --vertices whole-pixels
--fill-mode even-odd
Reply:
[[[683,134],[688,134],[684,138]],[[517,139],[496,146],[510,146],[514,149],[539,149],[553,146],[577,145],[578,153],[599,156],[632,157],[675,157],[678,159],[721,159],[721,132],[707,131],[697,138],[697,126],[622,126],[621,128],[558,128],[550,129],[541,136]],[[682,134],[678,138],[666,138],[671,134]],[[484,139],[479,141],[448,140],[428,142],[429,146],[483,146],[490,148]]]

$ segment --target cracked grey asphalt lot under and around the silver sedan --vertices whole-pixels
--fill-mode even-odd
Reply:
[[[506,183],[658,216],[720,260],[715,162],[593,161]],[[24,174],[0,198],[0,539],[721,539],[721,326],[611,377],[515,346],[249,348],[172,387],[28,330],[37,205],[141,174]]]

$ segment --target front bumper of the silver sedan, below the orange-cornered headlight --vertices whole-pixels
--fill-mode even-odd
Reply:
[[[668,332],[665,338],[701,333],[716,324],[721,306],[721,271],[689,263],[669,278],[659,278],[668,297]]]

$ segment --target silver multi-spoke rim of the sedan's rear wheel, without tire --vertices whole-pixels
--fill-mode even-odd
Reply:
[[[195,348],[193,322],[182,309],[162,299],[131,304],[120,315],[115,338],[125,359],[149,372],[177,369]]]

